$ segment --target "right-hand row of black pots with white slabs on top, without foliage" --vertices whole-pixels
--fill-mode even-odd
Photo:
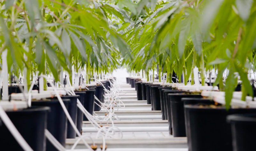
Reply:
[[[187,137],[189,150],[255,149],[252,140],[255,134],[253,127],[256,124],[256,108],[252,98],[247,97],[247,101],[251,102],[250,106],[239,106],[243,101],[237,103],[232,99],[231,108],[226,110],[225,104],[218,103],[219,96],[222,96],[223,100],[225,97],[223,93],[216,91],[217,87],[205,86],[192,91],[195,87],[187,88],[180,83],[148,83],[139,83],[151,89],[146,91],[153,100],[148,101],[148,104],[153,103],[153,110],[161,110],[162,119],[168,120],[171,135]],[[202,91],[203,89],[215,90],[216,93],[209,95],[207,93],[212,91]],[[138,91],[144,93],[137,89]],[[236,92],[234,95],[235,99],[241,99],[242,92]],[[160,109],[156,108],[158,104],[161,104]]]

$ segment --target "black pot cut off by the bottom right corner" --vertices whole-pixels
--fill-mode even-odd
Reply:
[[[256,150],[256,114],[228,115],[227,120],[231,124],[233,150]]]

